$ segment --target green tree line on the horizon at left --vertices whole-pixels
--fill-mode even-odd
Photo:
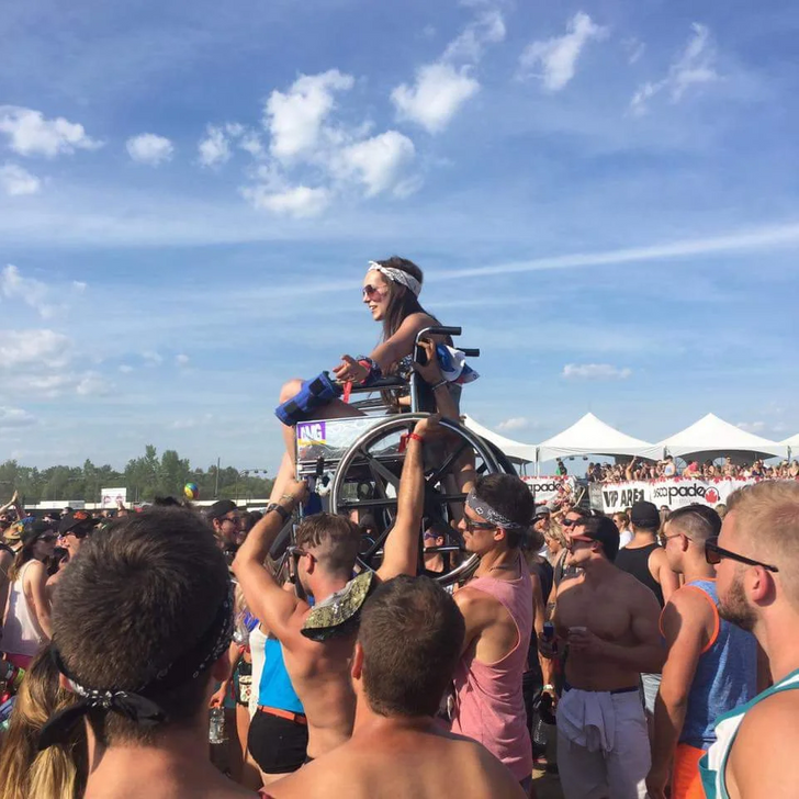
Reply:
[[[237,499],[268,497],[272,487],[265,473],[251,474],[234,466],[192,468],[188,458],[175,450],[160,457],[153,444],[145,453],[127,462],[123,471],[109,464],[98,466],[87,459],[82,466],[23,466],[14,460],[0,464],[0,499],[8,502],[16,489],[22,502],[83,499],[100,502],[101,488],[127,488],[128,503],[153,502],[156,496],[183,496],[187,483],[196,483],[199,499]]]

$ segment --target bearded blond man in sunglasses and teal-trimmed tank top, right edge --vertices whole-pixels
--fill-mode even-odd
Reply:
[[[719,612],[753,632],[774,685],[716,721],[700,761],[708,799],[792,799],[799,785],[799,483],[764,481],[735,492],[718,540]]]

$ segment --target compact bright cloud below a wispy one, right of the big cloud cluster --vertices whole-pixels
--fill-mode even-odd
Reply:
[[[479,90],[480,83],[469,75],[469,67],[427,64],[416,71],[413,86],[397,86],[391,99],[397,119],[415,122],[428,133],[439,133]]]

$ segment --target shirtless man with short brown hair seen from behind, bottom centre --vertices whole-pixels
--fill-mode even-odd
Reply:
[[[352,738],[270,785],[274,799],[522,799],[485,747],[436,721],[463,633],[454,601],[429,578],[380,586],[363,608],[352,659]]]

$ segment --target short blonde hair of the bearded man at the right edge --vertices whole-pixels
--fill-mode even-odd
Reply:
[[[799,610],[799,483],[764,480],[728,497],[735,532],[753,544],[747,555],[779,567],[778,579]]]

